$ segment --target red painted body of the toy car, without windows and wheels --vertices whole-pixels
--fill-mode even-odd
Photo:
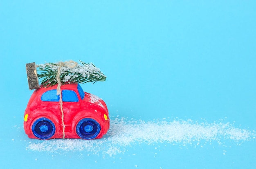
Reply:
[[[77,94],[79,99],[78,102],[63,101],[65,138],[80,138],[76,134],[76,125],[84,118],[94,119],[100,124],[101,131],[96,138],[101,138],[109,129],[108,108],[106,103],[102,99],[99,99],[99,97],[87,92],[84,92],[85,97],[81,99],[77,86],[77,83],[61,86],[61,91],[72,90]],[[36,89],[31,95],[24,114],[24,117],[28,114],[27,121],[24,121],[24,129],[29,138],[37,138],[34,136],[31,127],[34,121],[42,117],[50,119],[56,126],[55,134],[51,138],[63,138],[63,125],[61,121],[62,113],[59,101],[41,100],[42,94],[49,90],[56,90],[56,88],[57,85],[48,88],[42,87]],[[104,114],[106,114],[105,117]]]

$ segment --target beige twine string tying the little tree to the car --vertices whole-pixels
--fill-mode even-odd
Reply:
[[[57,72],[57,76],[56,76],[56,80],[58,82],[58,86],[57,86],[57,95],[60,95],[60,108],[61,108],[61,122],[62,122],[62,126],[63,126],[63,139],[65,139],[65,123],[64,123],[64,112],[63,112],[63,101],[62,101],[62,93],[61,93],[61,67],[62,66],[67,66],[69,68],[74,68],[77,66],[77,63],[75,61],[65,61],[62,62],[60,61],[58,63],[58,72]]]

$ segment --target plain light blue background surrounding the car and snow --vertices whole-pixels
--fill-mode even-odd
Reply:
[[[254,169],[254,140],[227,145],[225,156],[223,147],[167,146],[155,156],[155,146],[135,145],[115,158],[53,157],[26,150],[22,125],[33,92],[25,64],[81,59],[107,75],[82,87],[103,98],[112,116],[225,119],[255,130],[255,9],[250,0],[1,0],[0,168]]]

